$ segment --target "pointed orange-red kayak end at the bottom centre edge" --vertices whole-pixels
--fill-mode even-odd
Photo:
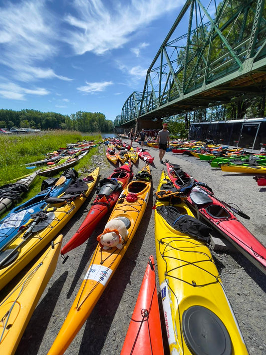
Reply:
[[[151,255],[120,355],[164,354],[154,258]]]

